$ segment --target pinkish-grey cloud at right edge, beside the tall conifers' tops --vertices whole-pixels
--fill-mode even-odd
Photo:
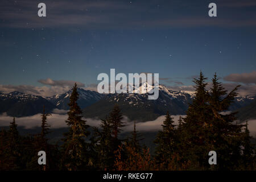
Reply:
[[[256,71],[251,73],[233,73],[223,78],[226,81],[241,82],[243,84],[256,84]]]

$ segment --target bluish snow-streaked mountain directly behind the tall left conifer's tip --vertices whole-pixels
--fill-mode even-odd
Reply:
[[[99,101],[105,94],[100,94],[98,92],[84,90],[81,88],[77,89],[79,93],[79,100],[77,103],[83,109],[86,106],[92,105],[93,103]],[[72,90],[69,90],[66,93],[58,94],[55,96],[47,97],[47,100],[56,106],[57,109],[68,110],[69,106],[69,97],[71,96]]]

